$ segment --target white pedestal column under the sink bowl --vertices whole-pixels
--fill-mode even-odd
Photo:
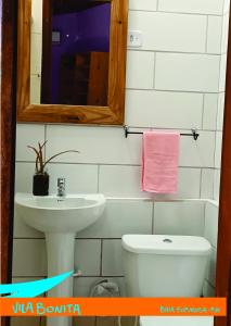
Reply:
[[[46,234],[48,277],[74,271],[75,234]],[[48,292],[49,298],[72,298],[73,277]],[[72,317],[48,317],[47,326],[70,326]]]

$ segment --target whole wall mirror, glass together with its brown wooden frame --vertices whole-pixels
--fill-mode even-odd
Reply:
[[[124,123],[126,2],[18,1],[18,122]]]

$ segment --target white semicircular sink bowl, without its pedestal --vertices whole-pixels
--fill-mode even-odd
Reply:
[[[17,193],[17,214],[30,227],[43,233],[77,233],[93,224],[103,213],[103,195],[35,197]]]

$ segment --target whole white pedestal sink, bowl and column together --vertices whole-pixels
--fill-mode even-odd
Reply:
[[[35,197],[15,196],[17,215],[30,227],[46,234],[48,277],[74,271],[75,236],[103,213],[103,195]],[[84,272],[84,271],[82,271]],[[48,292],[50,298],[73,297],[73,277]],[[47,326],[70,326],[72,318],[48,317]]]

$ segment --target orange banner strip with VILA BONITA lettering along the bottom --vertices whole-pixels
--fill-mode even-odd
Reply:
[[[224,298],[0,298],[1,316],[226,316]]]

